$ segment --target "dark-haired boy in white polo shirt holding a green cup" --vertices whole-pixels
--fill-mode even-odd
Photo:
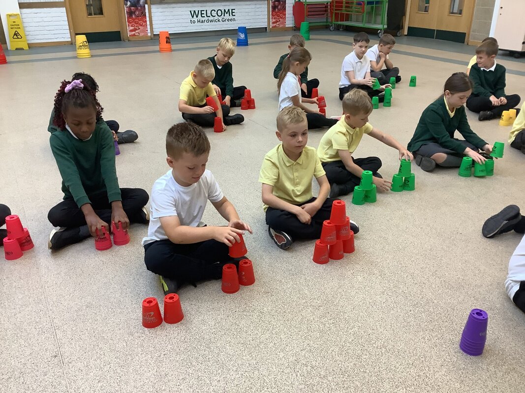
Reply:
[[[384,84],[380,89],[372,89],[375,78],[370,76],[370,59],[366,57],[366,50],[370,38],[365,32],[360,32],[354,36],[352,47],[354,50],[346,55],[341,65],[341,81],[339,82],[339,100],[352,89],[364,90],[370,97],[380,95],[390,84]],[[383,96],[380,96],[380,102]]]

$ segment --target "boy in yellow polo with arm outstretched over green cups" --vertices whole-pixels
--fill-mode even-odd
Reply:
[[[384,180],[377,172],[381,160],[377,157],[353,158],[364,134],[370,135],[399,151],[399,158],[414,158],[393,136],[381,132],[368,123],[372,113],[372,101],[365,91],[354,89],[343,97],[343,116],[322,136],[317,155],[330,182],[330,198],[351,193],[361,182],[363,171],[373,174],[377,191],[388,191],[392,182]]]

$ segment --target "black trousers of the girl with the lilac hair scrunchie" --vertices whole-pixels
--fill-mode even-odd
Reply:
[[[142,208],[150,199],[148,193],[140,188],[121,188],[122,209],[131,223],[145,224]],[[108,194],[103,192],[88,195],[91,206],[102,221],[111,225],[111,203]],[[74,199],[65,199],[49,211],[47,218],[53,226],[78,228],[86,225],[86,217]]]

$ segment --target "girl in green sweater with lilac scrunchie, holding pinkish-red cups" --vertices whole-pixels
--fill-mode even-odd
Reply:
[[[51,231],[48,247],[59,249],[89,236],[109,233],[112,222],[127,231],[130,222],[149,221],[144,205],[148,193],[119,188],[113,137],[102,120],[95,92],[82,80],[62,82],[55,96],[54,124],[49,144],[62,177],[64,200],[48,219],[59,230]]]

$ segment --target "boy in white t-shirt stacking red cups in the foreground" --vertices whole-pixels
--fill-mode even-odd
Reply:
[[[148,236],[142,239],[144,263],[161,276],[164,294],[185,283],[219,279],[229,246],[239,234],[251,233],[233,204],[206,170],[209,141],[201,127],[178,123],[166,135],[167,165],[172,169],[153,184]],[[227,226],[201,224],[207,201],[228,221]]]

